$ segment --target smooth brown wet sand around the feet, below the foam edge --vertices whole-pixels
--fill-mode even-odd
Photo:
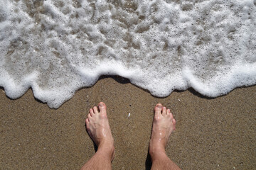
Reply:
[[[31,90],[16,100],[0,90],[0,169],[80,169],[95,153],[85,117],[100,101],[115,142],[113,169],[150,169],[156,103],[176,118],[166,153],[181,169],[256,169],[256,86],[212,99],[193,90],[156,98],[120,77],[102,77],[58,109]]]

